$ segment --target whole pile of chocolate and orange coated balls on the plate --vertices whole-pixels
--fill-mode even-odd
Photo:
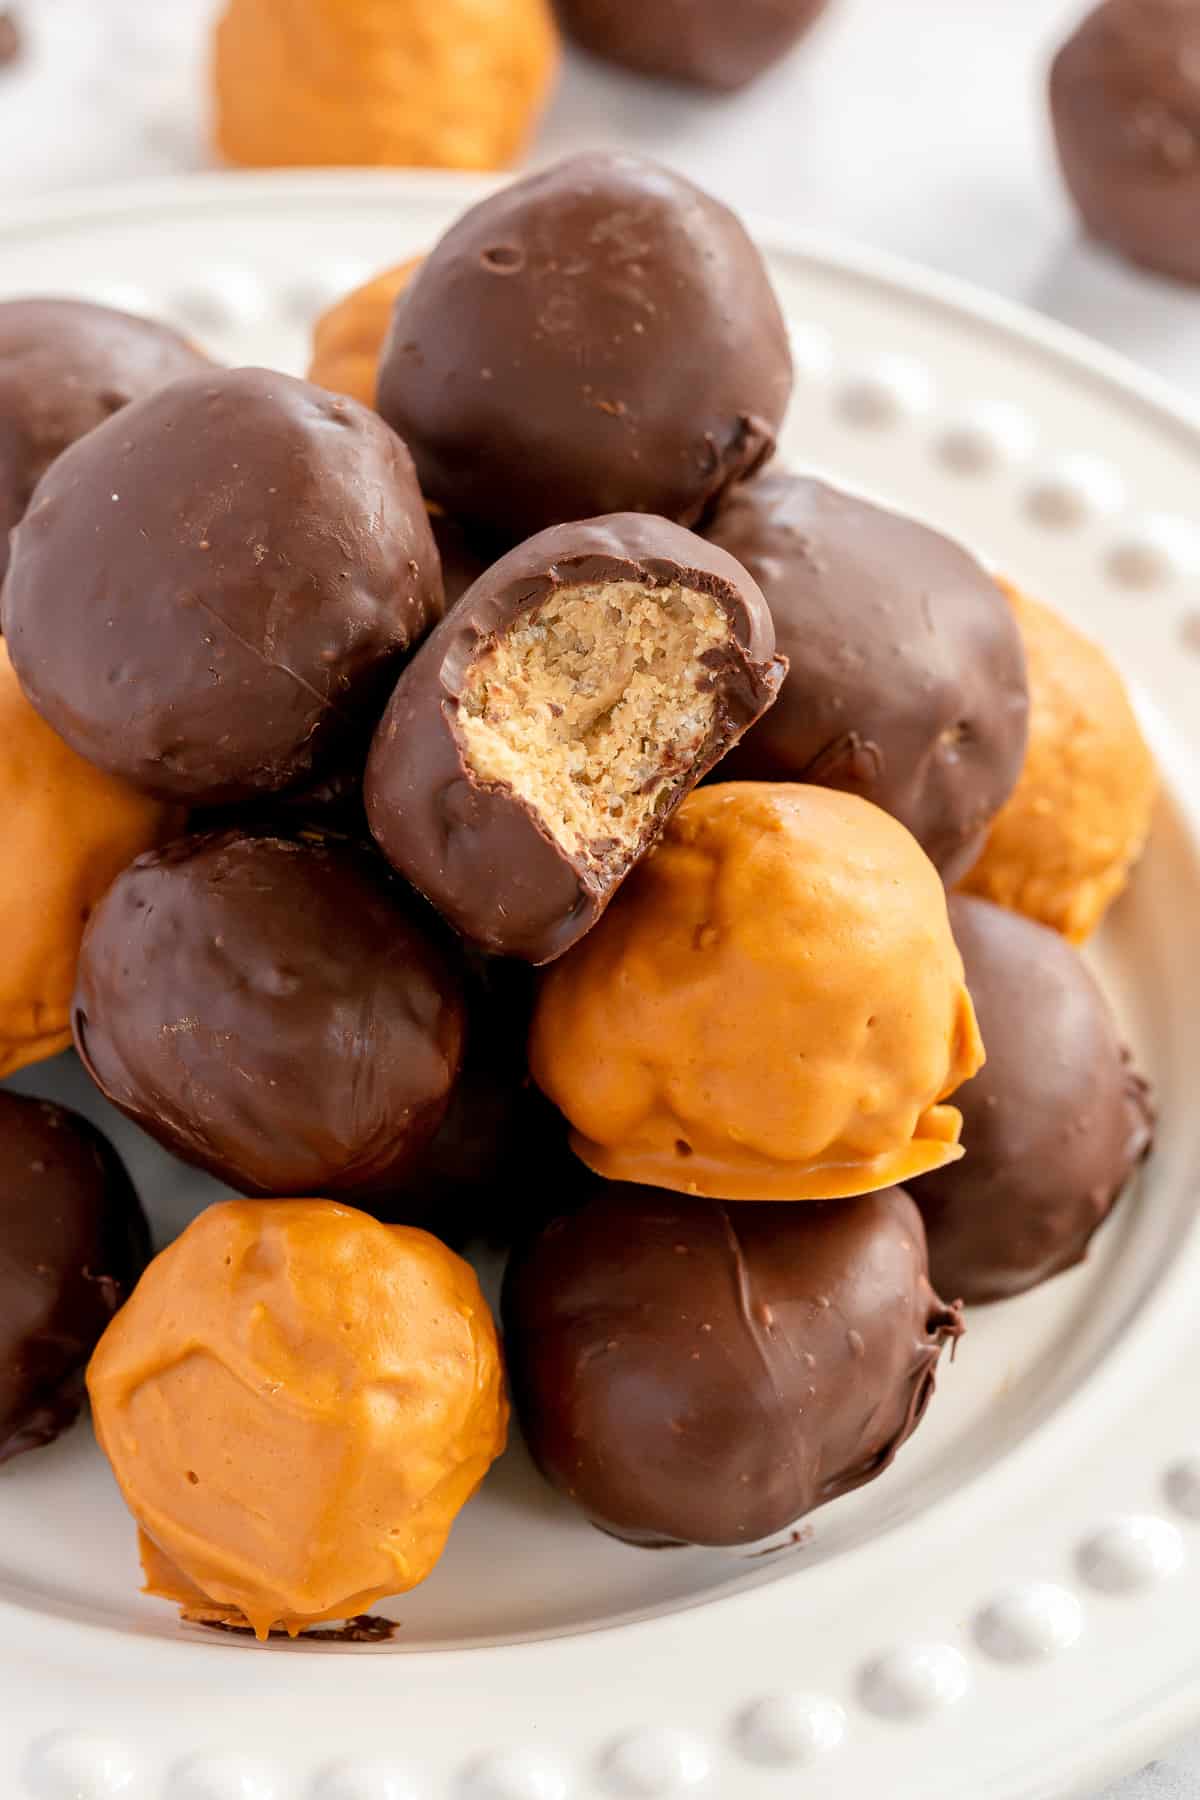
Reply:
[[[349,295],[313,382],[0,306],[4,1069],[74,1037],[237,1195],[146,1267],[110,1147],[0,1094],[0,1447],[90,1357],[191,1618],[434,1568],[507,1427],[468,1237],[545,1476],[745,1546],[1148,1148],[1072,947],[1150,828],[1121,682],[779,470],[790,391],[743,227],[622,155]]]

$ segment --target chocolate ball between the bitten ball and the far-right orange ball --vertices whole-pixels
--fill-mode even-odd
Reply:
[[[955,882],[1025,754],[1025,655],[997,583],[937,531],[804,475],[734,488],[707,536],[759,583],[790,661],[718,779],[862,794]]]

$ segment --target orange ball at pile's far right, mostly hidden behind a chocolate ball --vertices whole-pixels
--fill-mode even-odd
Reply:
[[[1029,664],[1029,749],[966,893],[1083,943],[1150,835],[1159,776],[1099,644],[1004,583]]]

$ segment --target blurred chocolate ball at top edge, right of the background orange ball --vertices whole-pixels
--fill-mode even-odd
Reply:
[[[558,0],[567,32],[642,76],[743,88],[777,63],[826,0]]]

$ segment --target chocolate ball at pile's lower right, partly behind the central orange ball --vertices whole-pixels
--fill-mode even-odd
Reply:
[[[934,1282],[966,1301],[1024,1294],[1087,1255],[1150,1150],[1153,1109],[1108,1003],[1056,931],[950,896],[988,1046],[957,1091],[966,1156],[912,1183]]]

